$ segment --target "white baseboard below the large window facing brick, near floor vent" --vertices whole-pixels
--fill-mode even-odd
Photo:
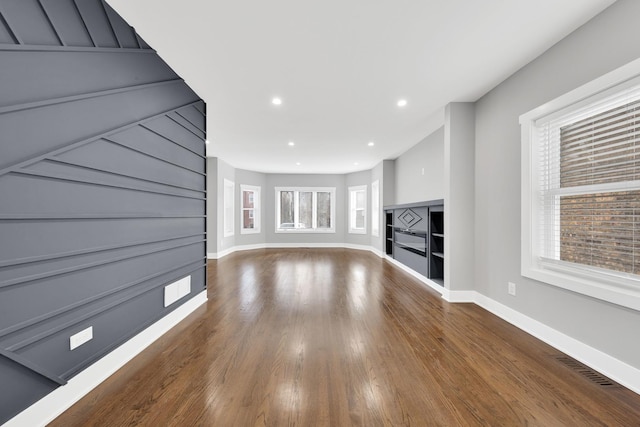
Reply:
[[[478,292],[470,292],[475,294],[473,301],[475,304],[640,394],[640,369],[550,328]]]

